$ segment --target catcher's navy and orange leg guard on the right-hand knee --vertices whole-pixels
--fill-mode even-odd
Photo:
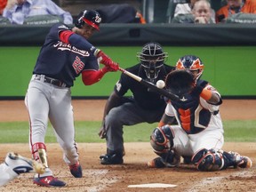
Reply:
[[[211,172],[221,170],[224,166],[222,151],[211,149],[200,149],[192,156],[192,163],[202,172]]]

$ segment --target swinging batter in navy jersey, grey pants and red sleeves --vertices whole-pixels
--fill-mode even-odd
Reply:
[[[83,176],[78,161],[70,87],[81,74],[84,84],[89,85],[100,81],[108,71],[118,69],[116,62],[87,41],[99,30],[100,21],[98,12],[85,10],[78,15],[74,28],[63,23],[53,25],[36,60],[25,102],[30,124],[30,149],[34,159],[46,167],[44,174],[36,175],[34,183],[37,185],[66,185],[53,177],[47,162],[44,136],[48,117],[71,174],[76,178]],[[98,61],[105,67],[100,69]]]

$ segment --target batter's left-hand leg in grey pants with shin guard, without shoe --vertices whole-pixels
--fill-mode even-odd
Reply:
[[[48,124],[49,103],[48,98],[51,94],[51,86],[44,86],[44,83],[39,81],[31,81],[28,86],[28,92],[25,98],[25,104],[28,109],[29,116],[29,144],[30,150],[36,160],[46,164],[44,176],[52,176],[52,171],[48,167],[46,158],[46,147],[44,137]],[[40,102],[38,102],[40,100]],[[40,145],[37,145],[37,144]],[[39,148],[40,147],[40,148]],[[42,148],[41,148],[42,147]],[[45,154],[39,158],[38,151],[44,150]]]

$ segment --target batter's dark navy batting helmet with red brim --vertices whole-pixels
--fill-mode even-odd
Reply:
[[[83,28],[84,24],[86,23],[87,25],[100,30],[100,22],[101,17],[99,12],[94,10],[84,10],[84,12],[80,12],[78,14],[75,26],[76,28]]]

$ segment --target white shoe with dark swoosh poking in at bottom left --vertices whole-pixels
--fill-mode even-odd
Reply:
[[[20,156],[17,153],[8,153],[5,157],[4,163],[11,167],[17,174],[33,171],[33,160]]]

